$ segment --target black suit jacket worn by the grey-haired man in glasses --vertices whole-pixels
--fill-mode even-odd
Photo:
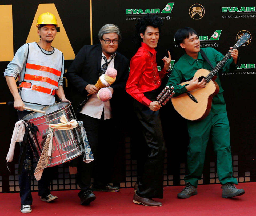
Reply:
[[[85,45],[77,53],[74,61],[65,74],[65,77],[68,80],[68,85],[71,87],[68,99],[72,102],[76,112],[80,111],[77,109],[77,106],[88,94],[85,87],[88,84],[96,84],[99,79],[101,56],[101,44]],[[124,98],[126,94],[125,85],[129,76],[129,60],[116,52],[114,68],[117,70],[117,76],[115,82],[111,85],[114,93],[113,97],[110,99],[113,116],[118,110],[118,105],[121,106],[120,103],[122,103],[122,98]]]

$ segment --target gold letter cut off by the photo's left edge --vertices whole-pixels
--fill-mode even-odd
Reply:
[[[13,59],[13,12],[12,5],[0,5],[0,61]]]

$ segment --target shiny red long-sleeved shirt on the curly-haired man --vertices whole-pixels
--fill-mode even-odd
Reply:
[[[141,47],[131,59],[130,74],[126,83],[126,92],[146,106],[152,101],[143,93],[157,89],[167,73],[164,68],[158,72],[155,55],[154,48],[141,42]]]

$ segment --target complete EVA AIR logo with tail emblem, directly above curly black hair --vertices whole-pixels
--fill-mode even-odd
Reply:
[[[166,14],[166,13],[171,13],[173,10],[173,5],[174,3],[169,2],[162,12],[160,12],[160,8],[146,8],[146,9],[141,9],[141,8],[136,8],[136,9],[125,9],[125,14]]]

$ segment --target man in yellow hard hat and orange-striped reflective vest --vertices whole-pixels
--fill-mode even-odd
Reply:
[[[31,111],[24,110],[23,106],[33,109],[42,109],[55,103],[55,94],[61,101],[68,101],[63,91],[64,57],[61,51],[51,46],[58,26],[55,16],[49,12],[38,17],[37,34],[39,42],[27,43],[20,47],[13,60],[5,69],[4,76],[14,97],[14,108],[18,110],[18,118],[22,119]],[[15,82],[18,76],[19,91]],[[33,151],[29,142],[26,142],[26,153],[20,158],[19,188],[21,197],[21,212],[31,212],[31,167]],[[21,144],[22,145],[22,144]],[[21,146],[21,149],[24,149]],[[57,196],[50,193],[51,175],[48,169],[43,171],[38,181],[38,194],[43,201],[53,201]],[[18,169],[19,171],[19,169]]]

